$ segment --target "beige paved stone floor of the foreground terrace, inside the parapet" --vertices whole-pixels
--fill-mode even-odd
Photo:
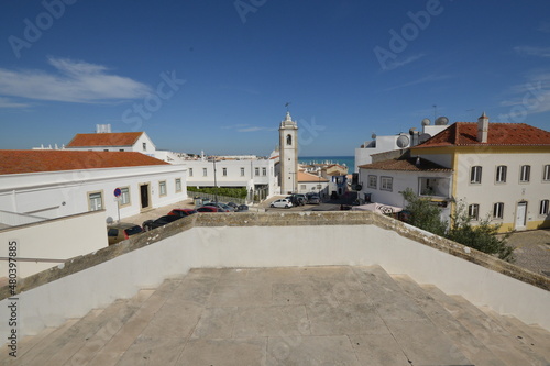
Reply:
[[[11,359],[10,359],[11,358]],[[550,333],[380,266],[193,269],[2,365],[549,365]]]

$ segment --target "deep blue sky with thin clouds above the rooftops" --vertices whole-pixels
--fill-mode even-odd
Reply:
[[[0,148],[110,123],[157,148],[353,155],[424,118],[550,130],[550,2],[3,1]]]

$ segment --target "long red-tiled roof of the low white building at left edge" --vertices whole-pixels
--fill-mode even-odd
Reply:
[[[169,164],[142,153],[131,152],[0,149],[0,175],[146,165]]]

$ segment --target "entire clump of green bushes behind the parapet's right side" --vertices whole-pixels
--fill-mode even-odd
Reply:
[[[488,217],[473,225],[465,204],[457,202],[451,214],[451,225],[448,225],[447,221],[441,220],[441,209],[429,199],[418,197],[410,188],[407,188],[402,195],[407,200],[405,209],[410,212],[409,223],[411,225],[480,252],[495,255],[503,260],[515,260],[514,247],[507,245],[512,232],[497,235],[501,225],[492,224]]]

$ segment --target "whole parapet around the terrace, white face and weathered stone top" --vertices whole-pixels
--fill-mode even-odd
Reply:
[[[20,332],[58,325],[190,268],[375,264],[550,329],[546,277],[376,213],[312,211],[196,214],[25,278]],[[9,292],[0,291],[1,320]]]

